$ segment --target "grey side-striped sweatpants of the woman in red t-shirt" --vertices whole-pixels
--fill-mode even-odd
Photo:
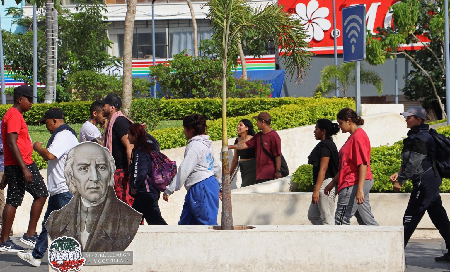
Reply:
[[[370,209],[369,192],[373,185],[373,180],[367,179],[365,181],[363,187],[365,201],[361,205],[356,203],[358,184],[343,188],[339,192],[338,207],[334,215],[334,223],[336,225],[350,225],[350,218],[355,215],[358,224],[361,226],[379,226]]]

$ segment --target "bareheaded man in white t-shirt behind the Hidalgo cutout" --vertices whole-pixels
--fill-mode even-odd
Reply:
[[[106,118],[102,115],[102,104],[90,105],[90,117],[80,129],[80,143],[91,141],[103,145],[103,137],[97,125],[105,126]]]

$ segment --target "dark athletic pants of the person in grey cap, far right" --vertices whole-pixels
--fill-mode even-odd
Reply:
[[[450,221],[446,210],[442,207],[441,196],[439,195],[441,183],[441,176],[437,174],[436,177],[433,169],[428,169],[419,178],[413,180],[413,190],[403,217],[405,247],[425,211],[428,212],[434,226],[446,241],[446,247],[450,247]]]

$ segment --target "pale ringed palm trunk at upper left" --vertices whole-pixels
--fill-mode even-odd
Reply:
[[[53,103],[58,72],[58,11],[53,0],[45,0],[45,97],[44,103]]]

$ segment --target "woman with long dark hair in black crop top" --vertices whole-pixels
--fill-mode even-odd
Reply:
[[[255,130],[253,129],[252,121],[243,119],[238,125],[239,137],[234,141],[234,144],[247,142],[253,136],[255,136]],[[256,184],[256,159],[255,150],[253,148],[247,148],[243,150],[236,150],[236,154],[233,156],[229,173],[233,173],[234,169],[239,163],[241,168],[242,185],[241,187]],[[240,160],[239,160],[240,159]]]

